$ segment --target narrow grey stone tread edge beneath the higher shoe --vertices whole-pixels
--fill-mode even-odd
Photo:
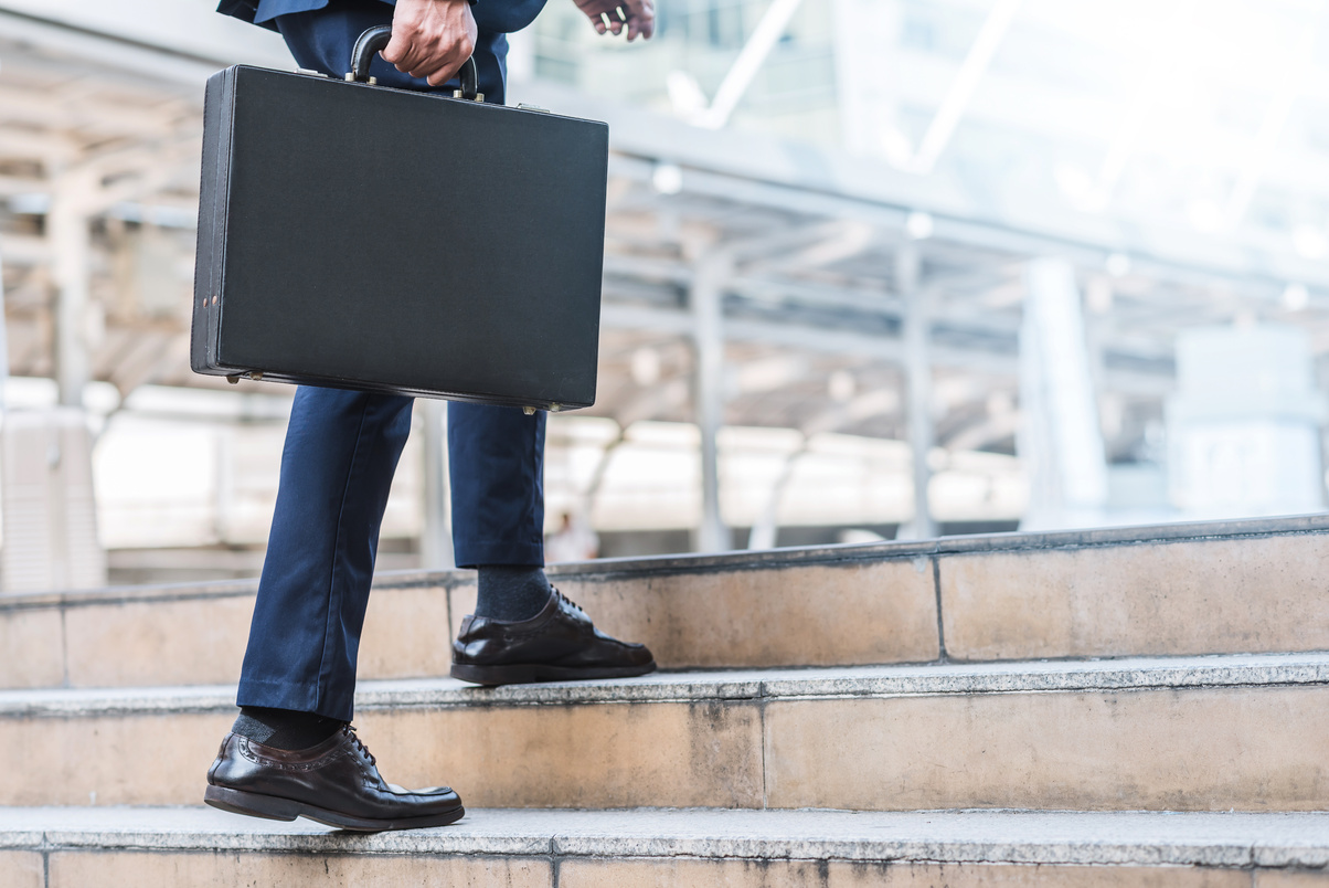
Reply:
[[[1329,653],[1131,657],[655,673],[641,678],[476,687],[452,678],[360,682],[356,706],[431,707],[893,697],[1329,683]],[[0,717],[234,709],[231,685],[0,691]]]

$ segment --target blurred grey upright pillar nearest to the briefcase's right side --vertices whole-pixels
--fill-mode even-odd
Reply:
[[[692,399],[696,427],[702,433],[702,524],[696,530],[698,552],[724,552],[730,532],[720,517],[720,469],[716,439],[724,424],[724,284],[732,261],[720,253],[696,263],[688,303],[692,310]]]

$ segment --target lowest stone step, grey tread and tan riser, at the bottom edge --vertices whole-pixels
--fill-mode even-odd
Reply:
[[[356,835],[209,808],[0,810],[0,884],[1329,885],[1329,814],[472,810]]]

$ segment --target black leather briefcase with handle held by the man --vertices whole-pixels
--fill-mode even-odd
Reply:
[[[207,82],[199,374],[562,409],[595,400],[605,124],[238,65]],[[368,80],[368,82],[361,82]]]

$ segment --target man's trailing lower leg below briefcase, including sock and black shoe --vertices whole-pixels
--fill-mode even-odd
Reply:
[[[465,814],[447,787],[384,780],[348,724],[379,524],[409,433],[409,397],[296,389],[241,717],[207,771],[207,804],[372,831]]]

